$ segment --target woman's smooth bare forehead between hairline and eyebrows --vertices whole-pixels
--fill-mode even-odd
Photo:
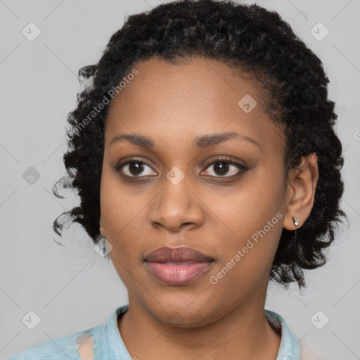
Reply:
[[[105,143],[131,132],[188,143],[200,134],[240,131],[283,145],[283,132],[265,113],[265,91],[224,63],[150,58],[129,72],[134,68],[139,74],[110,103]]]

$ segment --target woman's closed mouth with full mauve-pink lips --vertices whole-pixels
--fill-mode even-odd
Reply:
[[[214,259],[191,248],[160,248],[146,255],[146,269],[165,285],[186,285],[210,268]]]

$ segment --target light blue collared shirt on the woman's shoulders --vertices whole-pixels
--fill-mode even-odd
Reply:
[[[79,336],[87,333],[93,336],[95,360],[133,360],[117,328],[117,316],[128,308],[129,305],[118,307],[105,324],[63,338],[41,342],[7,360],[82,360],[77,352],[80,345],[76,341]],[[284,319],[274,311],[264,311],[266,318],[275,327],[281,328],[281,343],[276,360],[300,360],[300,343]]]

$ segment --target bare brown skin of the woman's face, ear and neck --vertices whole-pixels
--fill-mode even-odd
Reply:
[[[269,271],[283,228],[295,229],[293,216],[302,226],[310,214],[316,156],[304,158],[286,179],[283,131],[265,113],[266,94],[217,60],[172,65],[152,58],[136,69],[139,75],[111,103],[101,176],[100,229],[129,292],[129,311],[119,321],[124,344],[131,356],[147,360],[275,360],[281,338],[264,316]],[[245,94],[257,101],[248,114],[238,106]],[[193,145],[197,136],[229,131],[260,147],[239,139]],[[118,134],[147,136],[155,147],[127,141],[110,146]],[[227,162],[224,176],[213,164],[217,155],[249,169]],[[131,183],[115,172],[130,157],[148,160],[137,175],[148,181]],[[174,166],[185,174],[176,186],[166,177]],[[125,166],[122,174],[134,178],[136,168]],[[212,285],[210,276],[278,212],[282,219]],[[214,262],[191,283],[162,285],[143,259],[163,246],[194,248]]]

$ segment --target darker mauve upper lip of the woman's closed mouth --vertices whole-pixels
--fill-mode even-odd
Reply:
[[[146,262],[212,262],[213,259],[192,248],[158,248],[145,257]]]

